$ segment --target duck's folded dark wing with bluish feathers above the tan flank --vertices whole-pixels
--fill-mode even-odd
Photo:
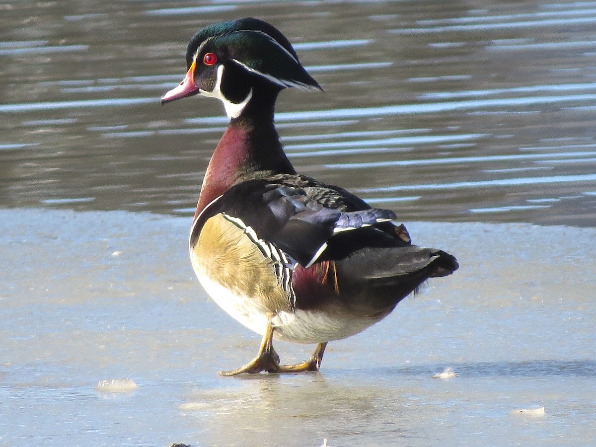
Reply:
[[[339,191],[329,188],[324,191],[322,185],[243,182],[226,191],[198,216],[191,243],[207,219],[222,213],[238,225],[252,228],[261,240],[308,267],[325,251],[334,234],[396,218],[392,211],[368,207],[363,201],[364,206],[358,203],[358,207],[364,209],[349,210],[345,203],[355,201],[352,197],[342,198]],[[340,206],[330,206],[333,201]]]

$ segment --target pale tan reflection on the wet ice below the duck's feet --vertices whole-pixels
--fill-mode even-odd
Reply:
[[[353,387],[324,375],[245,378],[239,387],[200,391],[181,405],[188,418],[208,421],[209,445],[391,445],[420,441],[411,420],[415,404],[407,393],[384,384]],[[290,383],[291,382],[291,383]],[[392,414],[392,418],[380,418]],[[247,417],[250,415],[250,418]],[[416,424],[429,424],[424,415]],[[296,430],[297,426],[300,430]],[[374,437],[365,433],[376,433]],[[429,436],[430,440],[434,436]],[[418,439],[417,439],[418,438]],[[341,441],[338,441],[341,439]],[[438,439],[434,438],[434,441]],[[222,443],[223,444],[223,443]]]

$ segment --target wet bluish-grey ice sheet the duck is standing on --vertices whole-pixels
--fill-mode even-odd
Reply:
[[[207,299],[190,219],[0,210],[0,445],[590,445],[596,230],[408,223],[454,253],[321,373],[223,378],[259,337]],[[120,252],[113,256],[114,252]],[[312,346],[276,343],[283,362]],[[445,365],[454,380],[433,380]],[[128,377],[132,393],[100,393]],[[514,409],[547,406],[542,417]]]

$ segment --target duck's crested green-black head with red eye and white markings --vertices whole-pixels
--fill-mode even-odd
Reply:
[[[162,104],[198,94],[218,98],[237,118],[252,103],[272,107],[284,88],[321,89],[288,39],[252,17],[204,27],[188,44],[186,60],[184,80],[162,96]]]

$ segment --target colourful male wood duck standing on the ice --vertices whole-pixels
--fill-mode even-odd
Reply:
[[[328,342],[458,268],[451,254],[412,245],[392,211],[296,173],[275,130],[275,100],[287,87],[321,86],[279,30],[252,17],[212,24],[193,36],[186,61],[162,104],[218,98],[230,118],[203,179],[191,262],[212,299],[263,336],[253,361],[220,374],[318,371]],[[280,365],[274,337],[317,347],[305,362]]]

